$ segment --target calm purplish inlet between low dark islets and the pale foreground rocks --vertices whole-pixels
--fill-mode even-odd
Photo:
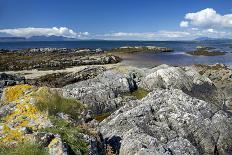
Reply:
[[[231,67],[232,53],[222,56],[191,56],[184,53],[136,53],[133,55],[126,55],[122,63],[137,67],[155,67],[160,64],[182,66],[223,63]]]

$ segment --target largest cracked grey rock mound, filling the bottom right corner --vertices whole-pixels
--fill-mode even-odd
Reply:
[[[232,119],[177,89],[156,89],[100,123],[114,153],[232,154]]]

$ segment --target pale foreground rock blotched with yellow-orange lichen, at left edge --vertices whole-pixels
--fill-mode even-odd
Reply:
[[[0,108],[0,145],[27,141],[28,133],[51,126],[46,113],[34,105],[37,88],[30,85],[7,87]]]

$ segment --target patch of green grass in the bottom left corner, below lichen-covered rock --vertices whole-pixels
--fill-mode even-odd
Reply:
[[[0,155],[48,155],[48,152],[39,144],[23,143],[16,146],[0,146]]]

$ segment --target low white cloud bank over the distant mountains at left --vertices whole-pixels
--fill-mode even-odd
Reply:
[[[63,36],[69,38],[80,38],[88,36],[88,32],[75,32],[67,27],[52,27],[52,28],[16,28],[16,29],[0,29],[0,33],[6,33],[17,37],[31,37],[31,36]]]

